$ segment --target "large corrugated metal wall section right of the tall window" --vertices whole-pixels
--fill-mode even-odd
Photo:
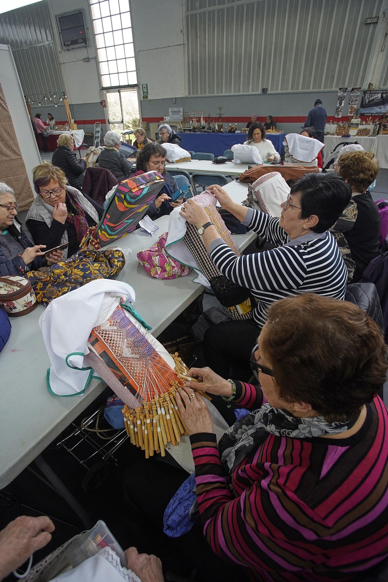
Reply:
[[[383,0],[187,0],[188,95],[364,86]]]

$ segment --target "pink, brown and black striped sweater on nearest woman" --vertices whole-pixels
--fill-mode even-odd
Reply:
[[[262,400],[259,388],[239,383],[241,406],[254,410]],[[269,434],[234,471],[232,491],[215,435],[192,435],[198,504],[213,551],[265,582],[359,580],[386,558],[388,416],[378,396],[367,408],[350,438]]]

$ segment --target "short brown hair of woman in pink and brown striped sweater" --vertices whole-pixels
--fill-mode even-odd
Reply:
[[[386,379],[383,333],[350,301],[312,293],[276,301],[259,344],[280,398],[311,404],[329,422],[357,417]]]

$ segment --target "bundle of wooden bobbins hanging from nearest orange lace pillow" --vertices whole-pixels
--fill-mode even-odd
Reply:
[[[138,406],[136,409],[130,408],[127,404],[122,409],[124,426],[131,444],[143,449],[146,459],[152,457],[154,452],[164,457],[165,448],[169,443],[172,446],[178,446],[181,437],[188,435],[177,407],[175,393],[184,385],[184,382],[188,380],[198,382],[198,379],[188,377],[189,370],[177,352],[172,357],[175,361],[177,379],[170,382],[169,391],[148,402],[143,400],[143,406]],[[205,392],[199,389],[197,392],[211,400]]]

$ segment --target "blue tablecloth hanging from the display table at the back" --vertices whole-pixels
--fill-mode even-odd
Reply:
[[[182,141],[181,147],[190,151],[201,151],[214,155],[223,155],[225,150],[230,150],[234,144],[243,144],[247,141],[246,133],[179,133]],[[284,133],[267,133],[266,138],[271,140],[273,147],[284,155]]]

